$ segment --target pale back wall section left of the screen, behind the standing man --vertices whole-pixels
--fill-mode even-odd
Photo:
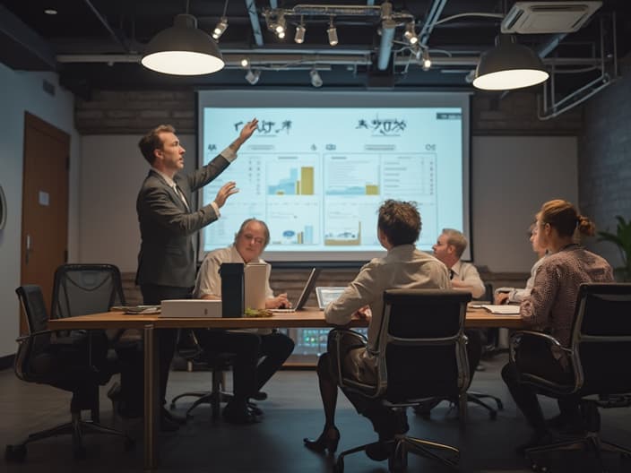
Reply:
[[[197,162],[194,136],[177,137],[186,150],[185,169],[191,171]],[[134,135],[82,137],[78,262],[108,262],[123,272],[136,271],[140,249],[136,196],[149,171],[138,149],[140,139]]]

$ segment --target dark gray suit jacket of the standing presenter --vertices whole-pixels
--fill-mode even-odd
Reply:
[[[191,211],[160,174],[152,169],[136,200],[141,245],[136,284],[192,288],[195,284],[193,235],[217,219],[212,205],[193,211],[193,192],[210,183],[228,168],[222,155],[190,175],[176,174],[174,181]]]

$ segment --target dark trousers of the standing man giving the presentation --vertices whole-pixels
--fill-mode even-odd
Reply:
[[[146,305],[159,305],[164,299],[190,299],[193,288],[177,288],[175,286],[160,286],[158,284],[142,284],[143,302]],[[176,351],[177,329],[160,329],[158,336],[158,370],[160,377],[160,400],[167,402],[167,383],[169,369]],[[141,376],[142,378],[142,376]]]

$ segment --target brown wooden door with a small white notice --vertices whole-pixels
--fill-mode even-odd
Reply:
[[[70,136],[26,113],[20,280],[42,288],[48,311],[55,270],[67,260],[69,157]]]

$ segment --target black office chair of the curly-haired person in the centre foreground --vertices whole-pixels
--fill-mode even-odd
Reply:
[[[469,385],[469,365],[463,334],[464,317],[471,295],[457,290],[390,289],[384,292],[384,314],[379,331],[376,385],[346,377],[343,357],[338,359],[338,383],[387,408],[404,410],[434,397],[463,399]],[[339,347],[341,331],[332,331]],[[466,403],[462,402],[462,409]],[[460,452],[453,446],[397,434],[390,441],[391,470],[407,466],[411,452],[457,468]],[[344,459],[376,445],[368,443],[339,455],[334,471],[342,473]],[[441,456],[438,452],[445,453]]]

